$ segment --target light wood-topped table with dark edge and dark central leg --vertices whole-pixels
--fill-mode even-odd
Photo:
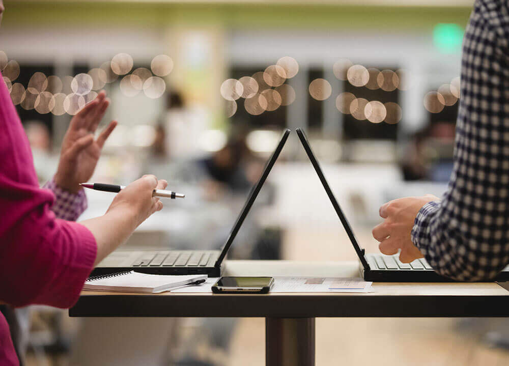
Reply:
[[[357,262],[227,261],[225,275],[355,277]],[[264,317],[266,364],[315,364],[316,317],[505,317],[495,283],[375,283],[372,293],[127,294],[83,291],[71,317]]]

